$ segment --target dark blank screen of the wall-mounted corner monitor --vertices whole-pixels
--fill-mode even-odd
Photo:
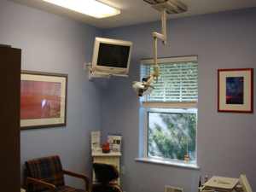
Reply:
[[[129,54],[130,46],[101,43],[99,46],[97,65],[126,68]]]

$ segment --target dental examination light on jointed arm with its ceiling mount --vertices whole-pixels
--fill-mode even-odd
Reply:
[[[163,44],[166,44],[166,15],[167,14],[180,14],[188,10],[187,6],[179,0],[143,0],[152,5],[152,7],[161,13],[162,33],[152,32],[154,39],[154,71],[148,77],[143,78],[142,82],[132,82],[132,88],[137,92],[137,96],[149,95],[154,87],[151,85],[154,80],[157,80],[160,73],[159,64],[157,62],[157,40],[160,39]]]

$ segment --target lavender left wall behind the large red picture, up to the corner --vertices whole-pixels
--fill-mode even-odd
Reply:
[[[90,130],[101,128],[102,100],[82,68],[101,32],[6,0],[0,1],[0,26],[0,44],[22,49],[22,69],[68,74],[67,127],[21,131],[21,168],[25,160],[59,154],[65,168],[90,175]]]

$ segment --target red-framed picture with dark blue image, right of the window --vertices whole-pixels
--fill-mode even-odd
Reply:
[[[218,69],[218,112],[253,113],[253,68]]]

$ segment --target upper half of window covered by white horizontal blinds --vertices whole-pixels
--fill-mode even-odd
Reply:
[[[143,102],[196,103],[198,97],[198,62],[196,56],[159,59],[160,77],[154,90]],[[144,60],[141,78],[153,72],[153,61]]]

